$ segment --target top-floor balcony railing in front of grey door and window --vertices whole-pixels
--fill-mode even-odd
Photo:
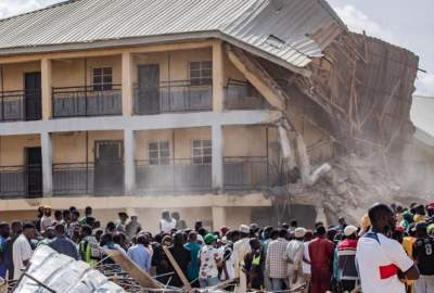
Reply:
[[[136,115],[210,111],[213,86],[191,80],[163,81],[159,87],[135,87]]]

